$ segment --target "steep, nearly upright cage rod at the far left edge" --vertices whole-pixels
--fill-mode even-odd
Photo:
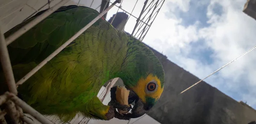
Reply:
[[[3,72],[6,77],[6,83],[9,91],[17,95],[17,89],[15,85],[15,79],[12,72],[12,65],[9,58],[9,53],[6,45],[6,41],[2,31],[0,30],[0,60],[3,67]]]

